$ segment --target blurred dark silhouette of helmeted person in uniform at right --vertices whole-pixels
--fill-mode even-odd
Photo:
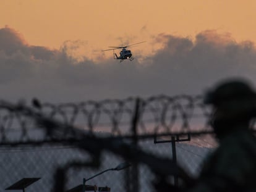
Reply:
[[[219,147],[205,159],[198,182],[186,191],[256,191],[256,138],[249,128],[255,98],[243,81],[228,81],[208,95],[206,103],[216,111],[213,129]]]

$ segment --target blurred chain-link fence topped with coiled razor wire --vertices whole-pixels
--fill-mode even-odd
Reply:
[[[217,146],[209,117],[200,96],[76,104],[1,101],[0,188],[21,178],[40,178],[25,191],[68,191],[82,185],[83,178],[126,161],[131,164],[127,169],[109,170],[85,184],[111,191],[153,191],[156,172],[168,172],[171,159],[197,177],[204,157]],[[158,159],[166,170],[152,169]],[[60,169],[62,180],[56,175]]]

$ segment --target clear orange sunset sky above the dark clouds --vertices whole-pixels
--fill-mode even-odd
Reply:
[[[2,0],[0,18],[1,28],[14,28],[29,44],[59,49],[64,41],[80,40],[87,56],[126,43],[147,41],[150,47],[159,33],[194,38],[217,30],[256,42],[254,0]]]

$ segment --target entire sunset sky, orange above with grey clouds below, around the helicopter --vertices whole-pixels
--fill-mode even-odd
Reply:
[[[255,17],[250,0],[2,0],[2,97],[198,94],[221,78],[256,81]],[[102,52],[142,41],[132,61]]]

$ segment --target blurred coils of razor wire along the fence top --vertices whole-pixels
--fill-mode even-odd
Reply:
[[[77,103],[12,104],[0,101],[0,144],[53,141],[35,120],[20,111],[19,106],[29,106],[38,114],[58,120],[66,126],[59,138],[68,139],[73,128],[90,134],[119,138],[151,138],[164,135],[211,133],[208,118],[210,109],[202,102],[202,96],[154,96],[151,98],[106,99]],[[137,108],[136,108],[137,107]],[[135,110],[137,109],[137,113]],[[135,117],[136,115],[136,117]],[[137,118],[136,133],[132,121]]]

